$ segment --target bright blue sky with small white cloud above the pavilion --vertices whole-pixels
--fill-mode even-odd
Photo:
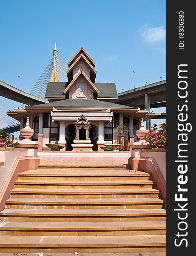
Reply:
[[[29,92],[57,42],[65,61],[81,47],[96,62],[97,82],[118,92],[166,79],[165,0],[1,1],[0,80]],[[6,110],[20,103],[0,97]]]

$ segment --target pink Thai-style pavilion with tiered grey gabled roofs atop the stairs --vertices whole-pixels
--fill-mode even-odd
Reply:
[[[57,49],[53,52],[57,54]],[[155,115],[116,104],[116,84],[95,82],[95,62],[83,47],[68,61],[66,73],[68,82],[57,82],[56,73],[53,82],[48,82],[48,103],[7,113],[20,121],[21,128],[29,116],[32,139],[41,143],[39,150],[48,150],[46,144],[59,143],[64,146],[62,151],[71,151],[77,144],[78,148],[89,144],[91,150],[102,151],[100,146],[117,142],[116,125],[129,127],[133,141],[141,118],[146,121]]]

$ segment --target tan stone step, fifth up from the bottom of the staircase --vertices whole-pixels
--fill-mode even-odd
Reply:
[[[158,189],[32,189],[14,188],[11,198],[157,198]]]

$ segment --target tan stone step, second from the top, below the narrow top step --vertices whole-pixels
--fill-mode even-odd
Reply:
[[[150,180],[151,174],[134,170],[39,169],[21,172],[18,180]]]

